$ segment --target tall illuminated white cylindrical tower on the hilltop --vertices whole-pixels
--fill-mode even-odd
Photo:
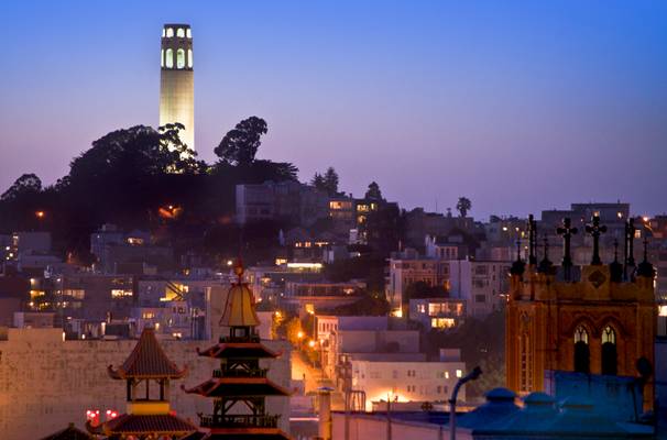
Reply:
[[[179,122],[181,140],[195,150],[195,78],[193,33],[189,24],[162,29],[160,75],[160,125]]]

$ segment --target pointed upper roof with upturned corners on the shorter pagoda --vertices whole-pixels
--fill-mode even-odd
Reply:
[[[181,378],[187,369],[178,370],[162,350],[155,330],[144,328],[125,362],[118,370],[109,365],[108,372],[112,378]]]

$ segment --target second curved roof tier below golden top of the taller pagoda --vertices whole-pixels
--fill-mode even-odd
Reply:
[[[266,377],[219,377],[210,378],[194,388],[183,391],[205,397],[255,397],[289,396],[287,388],[276,385]]]

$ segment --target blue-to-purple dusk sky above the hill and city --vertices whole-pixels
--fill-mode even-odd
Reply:
[[[259,157],[477,218],[667,211],[666,1],[0,1],[0,191],[53,184],[158,118],[162,25],[189,23],[199,157],[264,118]]]

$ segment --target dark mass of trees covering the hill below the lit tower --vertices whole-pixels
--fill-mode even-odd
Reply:
[[[238,251],[236,185],[296,180],[298,169],[255,157],[267,133],[261,118],[248,118],[229,131],[215,148],[214,164],[197,160],[183,144],[183,129],[175,123],[113,131],[92,142],[70,162],[69,173],[48,187],[34,174],[22,175],[0,196],[0,230],[50,230],[63,254],[84,260],[90,233],[103,222],[162,231],[176,238],[176,246]],[[280,228],[265,224],[248,237],[274,241]]]

